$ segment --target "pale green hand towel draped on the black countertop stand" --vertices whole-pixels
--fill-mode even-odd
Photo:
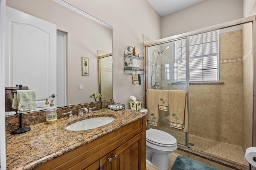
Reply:
[[[14,93],[12,107],[18,109],[18,113],[25,113],[36,109],[36,90],[17,90]]]

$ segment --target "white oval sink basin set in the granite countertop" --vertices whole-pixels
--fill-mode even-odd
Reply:
[[[85,119],[73,123],[66,127],[65,129],[70,131],[83,131],[88,129],[94,129],[96,127],[100,127],[106,125],[112,121],[114,121],[114,117],[94,117],[90,119]]]

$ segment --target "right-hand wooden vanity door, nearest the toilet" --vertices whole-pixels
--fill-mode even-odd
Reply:
[[[111,152],[112,170],[140,170],[142,133]]]

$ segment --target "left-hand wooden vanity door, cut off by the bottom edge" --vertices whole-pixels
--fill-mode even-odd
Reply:
[[[111,170],[111,163],[108,161],[108,158],[111,158],[110,153],[104,156],[103,158],[101,158],[101,164],[100,164],[100,160],[97,160],[96,162],[94,162],[84,170]],[[100,165],[101,165],[101,169],[100,169]]]

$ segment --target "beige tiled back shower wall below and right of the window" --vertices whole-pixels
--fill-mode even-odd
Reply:
[[[220,82],[189,85],[189,133],[242,144],[242,30],[220,33]]]

